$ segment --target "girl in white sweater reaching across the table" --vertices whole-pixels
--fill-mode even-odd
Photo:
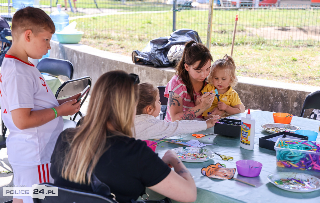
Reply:
[[[206,130],[214,126],[220,116],[214,115],[206,121],[180,120],[168,122],[156,117],[160,113],[161,102],[159,90],[151,83],[139,84],[139,102],[134,119],[135,137],[140,140],[171,137],[180,134],[190,134]],[[167,112],[169,113],[169,112]]]

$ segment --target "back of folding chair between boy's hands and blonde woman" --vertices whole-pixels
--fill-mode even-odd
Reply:
[[[76,79],[72,79],[72,80],[67,80],[66,82],[62,83],[62,85],[59,87],[55,97],[57,99],[60,99],[63,97],[73,96],[77,93],[81,93],[87,85],[91,86],[91,84],[92,84],[92,80],[91,80],[91,77],[89,77],[89,76],[80,77],[80,78],[76,78]],[[84,97],[82,97],[82,101],[80,104],[81,106],[84,103],[85,99],[87,98],[89,91],[85,94]],[[75,121],[76,116],[78,114],[80,115],[80,117],[82,117],[82,113],[79,110],[79,112],[77,112],[75,114],[75,116],[73,117],[73,119],[72,119],[73,121]]]

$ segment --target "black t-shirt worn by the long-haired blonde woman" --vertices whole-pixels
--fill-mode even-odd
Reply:
[[[92,191],[90,185],[73,183],[61,177],[65,149],[69,147],[66,142],[68,132],[69,129],[63,131],[57,140],[51,157],[51,176],[57,185]],[[94,174],[110,187],[117,201],[135,200],[145,187],[156,185],[169,175],[171,169],[146,142],[127,136],[114,136],[108,138],[108,142],[111,146],[100,157]]]

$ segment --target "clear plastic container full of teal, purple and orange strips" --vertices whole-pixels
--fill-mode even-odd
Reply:
[[[292,147],[287,147],[290,144]],[[318,146],[316,146],[318,145]],[[275,144],[277,166],[320,172],[320,142],[278,138]]]

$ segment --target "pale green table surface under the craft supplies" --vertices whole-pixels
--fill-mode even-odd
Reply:
[[[255,118],[256,120],[254,150],[245,150],[241,148],[240,138],[235,137],[227,137],[223,135],[213,134],[198,139],[200,142],[204,142],[205,144],[216,143],[214,145],[207,145],[205,146],[205,148],[223,155],[232,156],[234,157],[234,159],[224,161],[218,155],[215,155],[213,159],[210,159],[206,162],[183,162],[185,166],[187,166],[188,170],[190,171],[196,182],[196,202],[319,202],[320,190],[307,193],[285,191],[276,187],[268,181],[267,176],[269,174],[277,172],[305,173],[320,178],[320,172],[290,169],[276,166],[276,151],[268,150],[258,146],[260,137],[270,135],[270,133],[266,132],[263,128],[260,127],[260,125],[266,123],[274,123],[272,113],[273,112],[260,110],[251,112],[252,118]],[[241,116],[245,116],[245,113],[236,114],[232,117],[241,119]],[[318,128],[320,125],[320,121],[317,120],[294,116],[290,125],[299,126],[301,129],[313,130],[318,132],[319,134]],[[214,127],[205,131],[200,131],[198,133],[209,134],[213,133],[213,130]],[[179,139],[184,142],[187,142],[191,139],[196,139],[191,134],[174,136],[171,138]],[[320,142],[320,136],[317,137],[316,141]],[[158,153],[159,157],[163,157],[164,153],[167,150],[171,150],[177,147],[183,146],[174,143],[162,142],[157,146],[156,153]],[[207,167],[211,164],[216,163],[225,164],[227,168],[236,168],[236,161],[241,159],[252,159],[262,163],[263,166],[261,173],[257,177],[244,177],[239,175],[237,172],[234,176],[238,179],[255,184],[256,187],[235,181],[233,179],[219,180],[208,178],[201,174],[202,167]],[[147,192],[151,196],[151,199],[163,198],[163,196],[153,191],[147,190]]]

